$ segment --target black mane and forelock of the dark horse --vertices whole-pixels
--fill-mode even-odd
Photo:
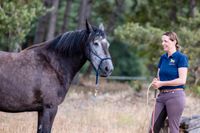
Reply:
[[[90,40],[94,39],[95,36],[105,36],[102,30],[94,26],[92,26],[92,28],[93,32],[90,34]],[[48,50],[55,51],[57,54],[73,56],[83,52],[84,47],[87,45],[88,41],[90,41],[88,37],[89,33],[87,30],[69,31],[58,35],[53,40],[32,45],[26,49],[47,45]]]

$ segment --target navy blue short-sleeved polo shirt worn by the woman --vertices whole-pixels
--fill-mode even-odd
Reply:
[[[188,58],[186,55],[182,54],[180,51],[176,51],[169,57],[167,53],[163,54],[158,64],[158,68],[160,68],[160,81],[169,81],[179,78],[178,68],[180,67],[188,67]],[[159,89],[162,90],[175,88],[184,88],[184,85],[162,86]]]

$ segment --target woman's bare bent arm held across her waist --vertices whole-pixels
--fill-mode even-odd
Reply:
[[[169,80],[169,81],[154,80],[152,85],[156,89],[158,89],[162,86],[184,85],[186,83],[186,79],[187,79],[187,71],[188,71],[188,69],[186,67],[178,68],[179,78],[174,79],[174,80]]]

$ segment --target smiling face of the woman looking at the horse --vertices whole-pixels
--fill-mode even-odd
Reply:
[[[176,49],[176,41],[170,40],[169,36],[163,35],[162,36],[162,46],[164,51],[169,52],[172,49]]]

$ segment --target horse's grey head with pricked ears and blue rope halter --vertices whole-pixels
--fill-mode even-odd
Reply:
[[[100,76],[110,76],[113,71],[113,63],[109,53],[110,44],[106,38],[103,24],[97,28],[86,21],[86,30],[89,33],[86,49],[88,60]]]

